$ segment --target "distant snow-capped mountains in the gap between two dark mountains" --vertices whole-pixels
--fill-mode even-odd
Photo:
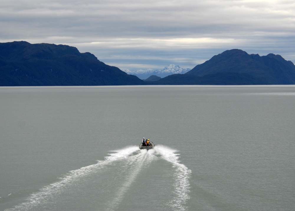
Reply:
[[[172,75],[172,74],[184,74],[186,72],[189,72],[191,69],[190,68],[181,68],[178,65],[175,64],[170,64],[169,66],[166,66],[163,69],[146,69],[146,70],[135,70],[134,72],[131,72],[129,70],[123,70],[124,72],[126,72],[127,74],[130,75],[136,75],[137,77],[139,77],[140,79],[147,79],[148,77],[150,77],[151,75],[156,75],[158,77],[164,78],[168,75]]]

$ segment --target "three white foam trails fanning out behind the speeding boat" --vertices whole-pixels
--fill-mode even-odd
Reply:
[[[139,150],[137,146],[130,146],[121,150],[114,150],[113,152],[109,153],[109,156],[106,156],[105,160],[99,160],[96,164],[69,171],[60,177],[60,181],[44,186],[38,192],[32,193],[26,202],[8,210],[38,210],[39,207],[44,207],[45,204],[54,201],[54,197],[59,197],[60,194],[66,192],[71,186],[81,183],[86,176],[103,172],[102,170],[105,171],[113,165],[120,165],[125,169],[127,176],[122,179],[119,186],[116,186],[117,190],[114,190],[114,195],[110,196],[109,202],[106,203],[106,210],[118,210],[120,203],[139,173],[158,159],[164,159],[172,163],[172,167],[174,168],[173,198],[166,205],[171,210],[186,210],[187,207],[185,204],[189,199],[189,177],[191,170],[180,163],[178,160],[179,154],[176,154],[176,150],[158,145],[148,151]],[[115,163],[117,161],[120,163]]]

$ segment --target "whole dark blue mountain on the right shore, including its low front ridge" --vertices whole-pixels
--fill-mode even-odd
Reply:
[[[295,84],[295,66],[280,55],[249,55],[245,51],[224,51],[185,74],[162,78],[157,84],[191,85],[287,85]]]

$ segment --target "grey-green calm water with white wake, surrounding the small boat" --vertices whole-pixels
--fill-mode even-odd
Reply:
[[[0,210],[294,210],[294,103],[293,85],[0,87]]]

